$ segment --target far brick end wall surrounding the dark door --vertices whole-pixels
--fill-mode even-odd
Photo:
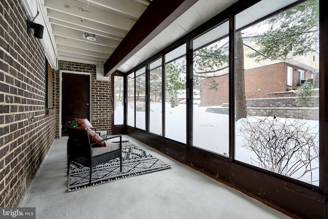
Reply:
[[[60,70],[91,73],[91,122],[97,128],[105,128],[111,133],[111,82],[96,79],[96,65],[82,64],[68,61],[59,61],[58,70],[54,71],[55,109],[56,109],[56,136],[59,136],[59,77]]]

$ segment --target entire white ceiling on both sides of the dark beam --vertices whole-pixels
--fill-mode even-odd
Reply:
[[[238,0],[199,0],[118,68],[127,72]],[[146,10],[148,0],[44,0],[57,59],[103,64]],[[95,34],[96,42],[83,37]]]

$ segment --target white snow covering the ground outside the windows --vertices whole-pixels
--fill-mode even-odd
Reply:
[[[117,107],[115,110],[115,124],[119,124],[122,121],[116,121],[116,118],[122,118],[119,116],[122,113],[121,107]],[[198,107],[194,105],[193,108],[193,145],[195,147],[214,152],[223,156],[229,156],[229,115],[206,112],[207,107]],[[150,132],[158,135],[162,135],[161,131],[161,103],[150,103]],[[166,103],[166,130],[165,137],[172,140],[186,143],[186,124],[187,124],[187,112],[186,104],[179,104],[177,107],[171,108]],[[132,117],[130,118],[132,119]],[[129,118],[128,118],[129,120]],[[314,127],[319,131],[319,121],[307,121],[311,127]],[[145,112],[136,112],[136,124],[145,124]],[[140,126],[140,125],[139,125]],[[139,127],[145,129],[145,126]],[[244,147],[241,147],[242,137],[238,133],[240,129],[240,122],[235,124],[235,160],[255,165],[257,156],[253,151],[249,151]],[[312,163],[312,169],[319,167],[319,160]],[[319,169],[308,172],[299,178],[304,168],[293,174],[291,177],[298,178],[298,180],[319,185]]]

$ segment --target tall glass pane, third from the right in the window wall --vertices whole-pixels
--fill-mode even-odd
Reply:
[[[165,55],[165,137],[186,143],[186,44]]]

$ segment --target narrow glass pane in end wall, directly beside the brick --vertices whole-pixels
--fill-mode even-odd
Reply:
[[[114,76],[114,125],[123,125],[124,121],[124,78]]]

